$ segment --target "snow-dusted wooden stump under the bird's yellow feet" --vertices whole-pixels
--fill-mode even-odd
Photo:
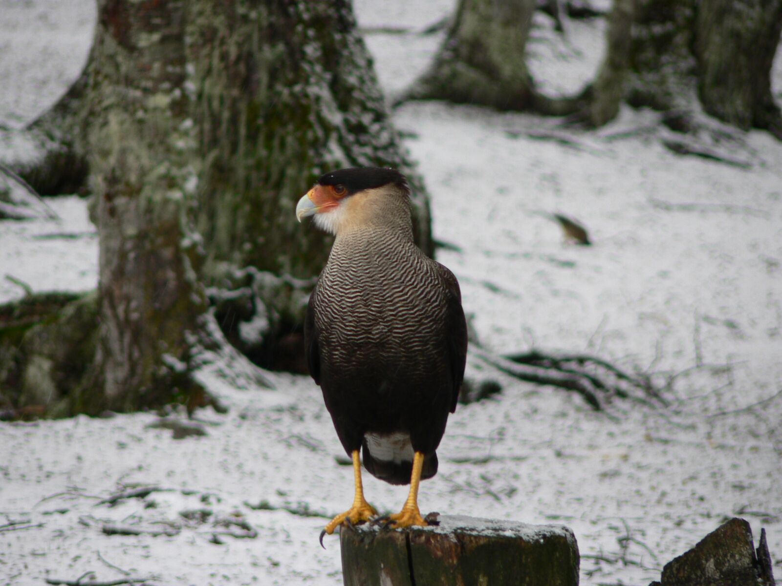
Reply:
[[[341,527],[345,586],[576,586],[579,548],[561,525],[440,516],[439,525]]]

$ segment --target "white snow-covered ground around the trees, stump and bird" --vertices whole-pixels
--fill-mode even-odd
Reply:
[[[361,0],[357,13],[362,27],[418,31],[452,5]],[[65,90],[94,17],[89,0],[0,0],[0,127],[21,127]],[[599,61],[601,25],[574,23],[567,50],[547,35],[536,32],[536,77],[552,92],[579,88]],[[389,94],[439,41],[369,34]],[[782,145],[748,134],[753,166],[741,170],[672,155],[648,135],[617,138],[651,118],[627,110],[561,145],[528,138],[552,124],[533,116],[443,104],[395,113],[432,192],[436,237],[461,248],[439,259],[484,345],[590,352],[658,381],[680,373],[669,408],[615,405],[614,418],[565,391],[503,380],[499,398],[452,416],[421,506],[565,523],[583,584],[639,586],[738,515],[755,535],[766,527],[779,577]],[[62,222],[0,223],[0,277],[94,287],[84,202],[50,203]],[[563,244],[541,211],[575,216],[595,245]],[[0,280],[0,302],[20,295]],[[352,477],[320,391],[288,375],[271,375],[274,390],[237,389],[219,366],[203,377],[231,409],[198,413],[201,437],[174,440],[145,413],[0,423],[0,584],[88,571],[152,584],[341,584],[338,542],[323,550],[317,534],[350,504]],[[138,484],[166,490],[100,503]],[[406,496],[371,477],[365,489],[385,511]],[[105,534],[112,524],[163,534]]]

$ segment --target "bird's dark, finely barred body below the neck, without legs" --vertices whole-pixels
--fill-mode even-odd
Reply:
[[[393,484],[409,482],[413,452],[424,452],[422,478],[432,477],[466,353],[450,270],[393,225],[338,233],[310,298],[305,338],[310,373],[346,451],[362,446],[367,470]]]

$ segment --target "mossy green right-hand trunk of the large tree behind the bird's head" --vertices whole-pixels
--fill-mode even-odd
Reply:
[[[407,173],[417,241],[432,254],[428,198],[389,121],[350,2],[192,2],[188,63],[207,279],[226,263],[316,275],[330,239],[301,230],[294,209],[318,175],[343,166]]]

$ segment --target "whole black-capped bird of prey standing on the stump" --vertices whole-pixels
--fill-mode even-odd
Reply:
[[[411,192],[398,170],[325,173],[296,218],[335,236],[310,295],[304,351],[335,431],[353,463],[353,505],[321,532],[382,520],[429,523],[418,487],[437,473],[436,449],[465,374],[467,323],[459,284],[413,240]],[[399,513],[378,517],[364,498],[361,462],[390,484],[410,484]]]

